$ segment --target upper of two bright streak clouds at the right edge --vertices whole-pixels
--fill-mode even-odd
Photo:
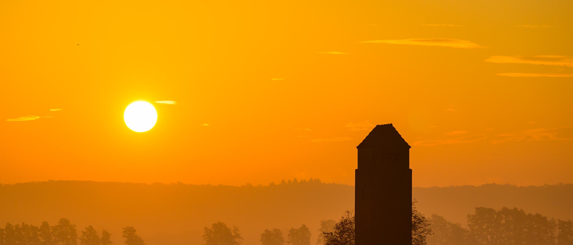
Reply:
[[[573,67],[573,59],[567,56],[492,56],[486,58],[485,62]]]

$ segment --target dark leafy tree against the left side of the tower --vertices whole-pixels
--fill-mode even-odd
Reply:
[[[347,210],[331,232],[323,232],[324,245],[354,245],[354,211]]]

